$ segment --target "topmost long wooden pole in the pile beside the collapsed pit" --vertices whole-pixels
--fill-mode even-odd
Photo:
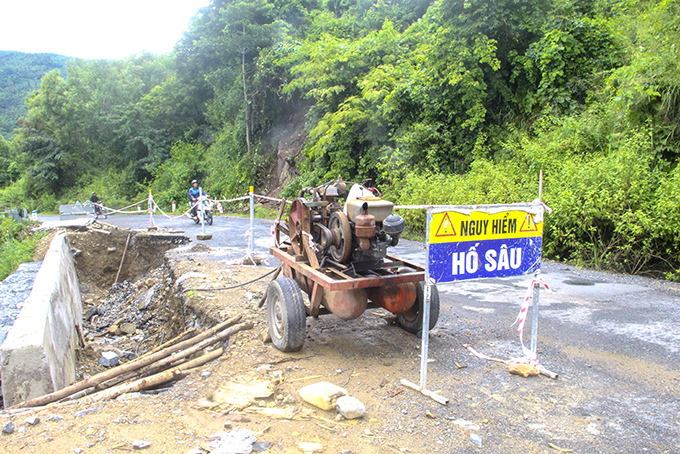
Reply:
[[[172,345],[164,350],[158,351],[152,355],[147,356],[144,359],[137,359],[134,361],[130,361],[129,363],[125,363],[121,366],[114,367],[112,369],[109,369],[107,371],[101,372],[97,375],[93,375],[90,378],[87,378],[85,380],[82,380],[78,383],[74,383],[71,386],[67,386],[66,388],[60,389],[59,391],[55,391],[50,394],[46,394],[44,396],[36,397],[34,399],[27,400],[25,402],[22,402],[20,404],[14,405],[11,408],[23,408],[23,407],[39,407],[43,406],[46,404],[49,404],[51,402],[56,402],[58,400],[63,399],[64,397],[68,397],[71,394],[75,394],[79,391],[82,391],[87,388],[91,388],[93,386],[97,386],[100,383],[103,383],[107,380],[110,380],[111,378],[124,374],[133,370],[141,369],[142,367],[154,363],[162,358],[165,358],[166,356],[170,356],[173,352],[183,350],[185,348],[188,348],[204,339],[207,339],[210,336],[215,335],[216,332],[224,329],[226,326],[233,325],[234,323],[237,323],[238,321],[241,320],[241,316],[236,316],[230,320],[227,320],[226,322],[223,322],[219,325],[217,325],[214,328],[211,328],[209,330],[206,330],[202,332],[201,334],[188,339],[184,342],[180,342],[178,344]]]

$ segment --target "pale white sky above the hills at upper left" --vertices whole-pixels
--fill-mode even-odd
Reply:
[[[0,0],[0,50],[118,60],[164,54],[210,0]]]

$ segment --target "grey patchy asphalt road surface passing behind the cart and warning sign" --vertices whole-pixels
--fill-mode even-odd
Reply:
[[[160,228],[183,230],[193,241],[202,231],[188,219],[154,220]],[[111,216],[105,222],[143,229],[150,224],[148,216]],[[271,225],[271,220],[255,220],[255,251],[275,265],[268,252]],[[247,250],[249,227],[248,218],[215,217],[206,227],[213,237],[203,243],[213,248],[213,259],[238,260]],[[425,262],[420,243],[402,241],[391,252]],[[560,374],[559,379],[508,384],[502,365],[468,356],[461,348],[468,343],[493,357],[521,356],[517,328],[511,325],[531,279],[522,276],[439,286],[441,315],[430,343],[430,355],[437,360],[429,367],[436,384],[431,389],[460,393],[458,378],[451,377],[458,373],[455,363],[465,361],[466,373],[478,371],[470,375],[476,382],[467,384],[465,392],[478,387],[490,390],[484,392],[493,397],[502,396],[508,386],[519,386],[534,407],[548,406],[542,412],[514,404],[525,423],[520,421],[522,434],[532,440],[556,440],[576,452],[680,452],[680,286],[554,262],[544,262],[541,271],[552,293],[540,294],[539,360]],[[494,404],[502,401],[494,399]],[[470,411],[458,414],[472,418]],[[574,421],[584,422],[579,426]],[[483,435],[512,436],[504,432],[508,430],[499,424]],[[494,452],[503,452],[502,444],[496,446]]]

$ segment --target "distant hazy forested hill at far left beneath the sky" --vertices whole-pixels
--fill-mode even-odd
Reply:
[[[26,97],[40,86],[42,76],[63,70],[68,57],[0,51],[0,136],[9,140],[19,118],[28,112]]]

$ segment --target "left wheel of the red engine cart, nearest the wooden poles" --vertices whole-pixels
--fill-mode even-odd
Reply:
[[[267,323],[274,347],[296,352],[305,341],[307,312],[302,292],[293,279],[274,280],[267,291]]]

